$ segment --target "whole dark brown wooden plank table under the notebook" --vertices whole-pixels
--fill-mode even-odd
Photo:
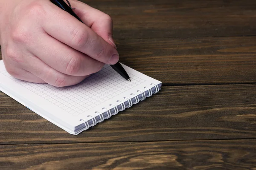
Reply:
[[[84,2],[162,90],[78,136],[0,92],[1,170],[255,170],[255,0]]]

